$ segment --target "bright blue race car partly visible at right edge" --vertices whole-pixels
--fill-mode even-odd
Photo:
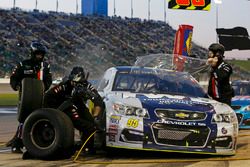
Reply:
[[[237,114],[240,129],[250,128],[250,81],[236,80],[232,82],[235,97],[232,108]]]

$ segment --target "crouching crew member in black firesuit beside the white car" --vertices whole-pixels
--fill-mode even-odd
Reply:
[[[94,103],[93,113],[86,107],[87,100]],[[66,113],[74,127],[81,132],[81,141],[85,141],[99,127],[95,119],[103,109],[103,100],[97,90],[87,81],[84,69],[74,67],[68,79],[45,93],[44,107],[58,108]],[[88,142],[89,152],[93,149],[93,137]]]

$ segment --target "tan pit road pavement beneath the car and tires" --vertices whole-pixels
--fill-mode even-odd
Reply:
[[[6,143],[15,133],[17,127],[15,113],[3,113],[5,109],[0,109],[0,166],[5,167],[33,167],[33,166],[177,166],[177,167],[249,167],[250,166],[250,130],[241,130],[238,142],[238,150],[235,156],[207,156],[194,154],[173,154],[173,153],[155,153],[142,151],[116,151],[110,154],[98,152],[97,155],[87,156],[80,155],[77,161],[72,159],[58,161],[42,161],[42,160],[22,160],[22,154],[14,154],[10,152],[10,148],[6,148]],[[8,108],[14,111],[15,109]]]

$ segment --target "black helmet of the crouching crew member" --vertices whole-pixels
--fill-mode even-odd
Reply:
[[[84,82],[86,80],[84,69],[79,66],[73,67],[69,75],[69,80],[77,83]]]

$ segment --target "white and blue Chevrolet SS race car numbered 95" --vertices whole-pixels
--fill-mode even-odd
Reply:
[[[187,72],[109,68],[98,87],[106,110],[106,146],[234,155],[238,121]]]

